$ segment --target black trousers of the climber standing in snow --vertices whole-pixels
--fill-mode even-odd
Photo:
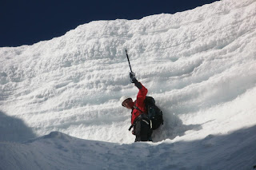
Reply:
[[[135,142],[152,141],[152,132],[153,130],[150,128],[150,120],[148,118],[138,119],[134,127],[134,134],[136,136]]]

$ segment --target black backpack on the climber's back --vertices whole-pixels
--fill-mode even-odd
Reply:
[[[144,103],[145,103],[147,115],[152,122],[152,129],[155,130],[159,128],[160,125],[163,125],[162,110],[155,105],[155,101],[153,97],[146,96]]]

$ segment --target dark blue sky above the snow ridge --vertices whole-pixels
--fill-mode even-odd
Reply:
[[[0,47],[32,45],[98,20],[174,14],[216,0],[1,0]]]

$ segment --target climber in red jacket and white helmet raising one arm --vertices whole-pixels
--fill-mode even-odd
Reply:
[[[150,119],[146,115],[144,100],[146,98],[147,89],[138,82],[134,73],[130,73],[130,82],[138,88],[137,100],[133,101],[131,97],[121,97],[122,106],[131,109],[131,126],[132,133],[136,136],[137,141],[152,141],[150,128]],[[129,129],[129,130],[130,130]]]

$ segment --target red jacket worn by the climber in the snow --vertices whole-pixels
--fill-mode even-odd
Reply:
[[[142,113],[146,113],[146,108],[144,104],[144,100],[146,98],[147,89],[142,85],[142,89],[139,89],[137,94],[137,100],[134,102],[134,105],[138,107],[138,109],[133,109],[131,113],[131,125],[134,124],[134,120],[141,115]]]

